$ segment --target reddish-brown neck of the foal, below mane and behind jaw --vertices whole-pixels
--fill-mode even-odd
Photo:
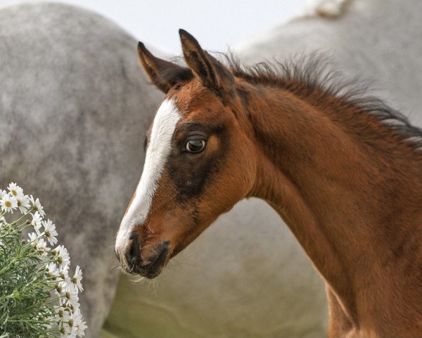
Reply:
[[[375,133],[367,139],[348,127],[344,121],[354,113],[356,125],[365,118],[357,107],[336,111],[334,97],[327,96],[323,106],[262,86],[250,90],[248,102],[260,152],[250,195],[268,201],[286,221],[351,324],[359,327],[362,308],[376,311],[381,305],[365,292],[389,281],[400,287],[392,272],[400,274],[403,260],[422,263],[421,162],[402,155],[400,146],[409,144],[397,148],[383,139],[384,133],[394,139],[394,132],[373,116],[365,117],[366,132]]]

